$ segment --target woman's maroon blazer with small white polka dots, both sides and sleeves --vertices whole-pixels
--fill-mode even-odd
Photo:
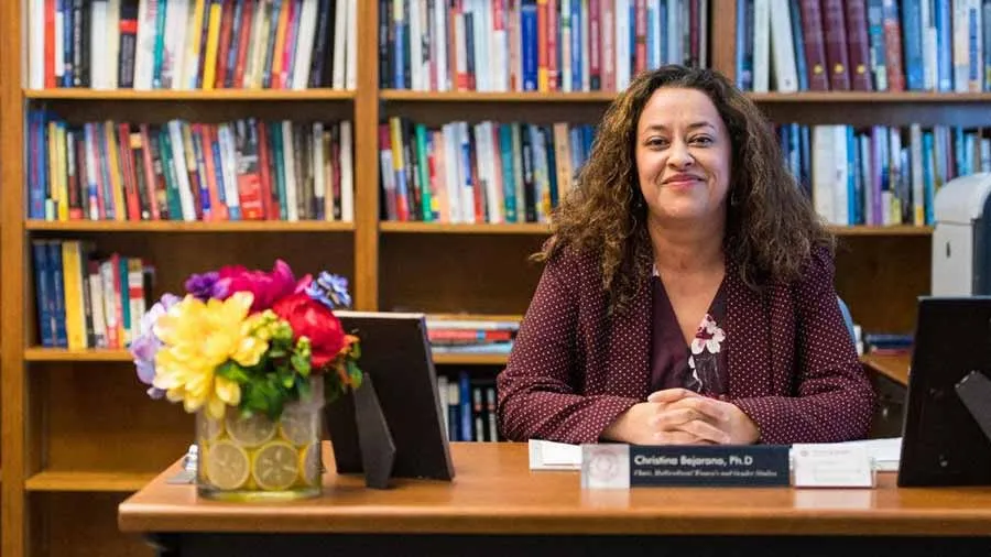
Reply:
[[[749,288],[727,263],[728,401],[759,443],[827,443],[867,436],[873,391],[847,332],[825,251],[802,280]],[[649,273],[646,273],[649,276]],[[510,440],[596,443],[651,385],[652,290],[606,313],[597,258],[560,254],[544,267],[499,374],[499,421]]]

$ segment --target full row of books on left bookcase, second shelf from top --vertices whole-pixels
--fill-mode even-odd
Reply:
[[[351,123],[28,116],[28,218],[353,220]]]

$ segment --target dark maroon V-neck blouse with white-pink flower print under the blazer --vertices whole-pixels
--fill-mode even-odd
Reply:
[[[684,387],[707,396],[725,397],[729,381],[726,372],[726,331],[719,325],[726,317],[722,285],[698,325],[695,338],[687,346],[667,291],[656,274],[651,278],[651,287],[654,291],[652,391]]]

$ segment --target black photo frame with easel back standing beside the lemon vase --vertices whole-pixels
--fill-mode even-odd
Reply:
[[[358,365],[370,379],[324,411],[337,472],[366,473],[369,487],[377,488],[385,487],[389,478],[451,480],[455,471],[425,316],[335,314],[345,332],[359,337]],[[373,391],[362,392],[366,387]],[[390,443],[392,461],[386,462]]]

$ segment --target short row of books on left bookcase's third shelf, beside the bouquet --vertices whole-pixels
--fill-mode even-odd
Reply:
[[[121,349],[141,335],[153,265],[118,253],[98,258],[80,240],[32,240],[31,255],[43,347]]]

